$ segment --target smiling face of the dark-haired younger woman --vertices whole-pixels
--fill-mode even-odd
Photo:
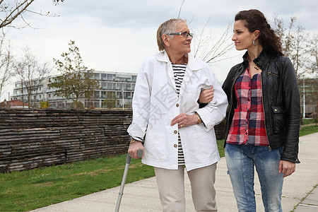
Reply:
[[[249,30],[245,27],[242,20],[236,20],[233,28],[234,35],[232,41],[235,42],[235,48],[237,50],[252,49],[254,47],[253,40],[257,39],[254,33],[249,33]]]

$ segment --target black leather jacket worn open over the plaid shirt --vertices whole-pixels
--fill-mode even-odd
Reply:
[[[230,69],[223,83],[223,90],[228,96],[225,141],[228,136],[237,100],[234,85],[249,64],[247,52],[244,61]],[[254,63],[261,68],[261,86],[265,127],[269,139],[269,148],[283,146],[281,160],[300,163],[298,143],[300,129],[300,97],[295,69],[288,57],[271,56],[262,51]]]

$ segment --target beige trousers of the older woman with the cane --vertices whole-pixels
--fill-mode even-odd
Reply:
[[[207,167],[191,170],[188,177],[191,182],[192,200],[196,211],[218,211],[216,208],[216,163]],[[161,206],[164,212],[184,212],[184,166],[178,170],[155,167]]]

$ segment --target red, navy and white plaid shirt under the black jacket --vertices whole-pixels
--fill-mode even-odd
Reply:
[[[261,93],[261,73],[245,70],[235,82],[237,107],[232,119],[227,143],[269,146]]]

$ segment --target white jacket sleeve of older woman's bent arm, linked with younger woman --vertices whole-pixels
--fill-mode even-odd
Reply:
[[[208,73],[210,73],[208,78],[213,84],[214,97],[211,102],[208,102],[208,105],[196,111],[201,117],[202,122],[204,122],[206,131],[211,130],[216,124],[223,121],[228,107],[228,100],[216,75],[211,70]]]

